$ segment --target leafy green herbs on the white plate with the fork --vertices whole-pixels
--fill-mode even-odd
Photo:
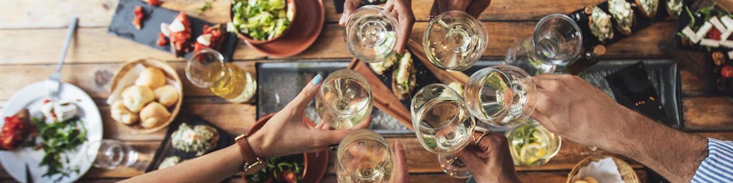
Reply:
[[[71,173],[79,173],[79,167],[64,167],[64,163],[70,163],[68,157],[62,157],[64,152],[76,149],[86,141],[86,129],[78,118],[66,122],[53,122],[46,124],[43,119],[33,118],[33,124],[38,130],[37,149],[43,149],[43,159],[40,165],[48,166],[48,171],[43,176],[61,176],[56,181],[70,176]]]

